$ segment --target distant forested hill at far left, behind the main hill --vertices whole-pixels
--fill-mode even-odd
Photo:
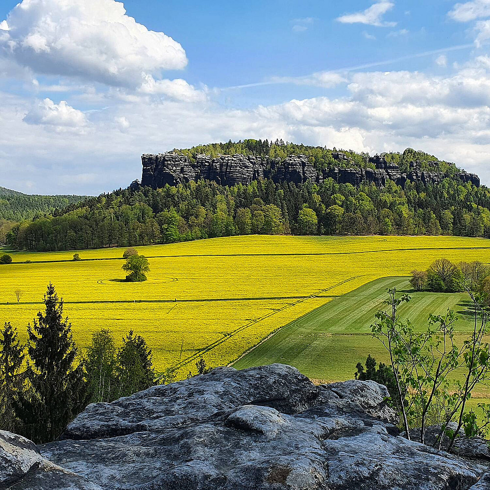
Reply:
[[[87,196],[30,196],[0,187],[0,222],[30,220],[82,201]],[[1,223],[0,223],[1,224]],[[1,245],[1,244],[0,244]]]

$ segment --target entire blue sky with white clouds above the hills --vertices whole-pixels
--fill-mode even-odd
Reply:
[[[0,23],[5,187],[98,194],[143,152],[246,137],[490,183],[490,0],[4,0]]]

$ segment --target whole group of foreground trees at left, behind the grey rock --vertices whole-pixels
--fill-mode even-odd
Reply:
[[[11,323],[0,330],[0,430],[37,443],[53,441],[89,403],[111,402],[174,381],[172,368],[156,376],[151,350],[132,330],[117,348],[112,333],[100,329],[82,353],[52,284],[44,303],[44,311],[27,326],[26,344]],[[196,373],[207,371],[200,358]]]

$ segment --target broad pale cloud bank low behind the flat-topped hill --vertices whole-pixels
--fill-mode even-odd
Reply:
[[[337,76],[350,82],[343,97],[291,100],[248,110],[225,109],[211,101],[196,105],[141,96],[124,99],[114,91],[100,100],[104,110],[91,114],[86,131],[54,138],[43,123],[25,126],[22,117],[32,110],[25,99],[0,94],[3,185],[27,190],[27,183],[34,182],[30,192],[98,194],[139,178],[141,153],[248,137],[371,153],[422,148],[490,182],[487,57],[447,77],[412,72]],[[48,118],[37,121],[44,117]]]

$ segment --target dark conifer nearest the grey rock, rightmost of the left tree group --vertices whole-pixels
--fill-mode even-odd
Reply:
[[[117,354],[118,396],[129,396],[153,385],[155,372],[151,349],[145,339],[130,330]]]

